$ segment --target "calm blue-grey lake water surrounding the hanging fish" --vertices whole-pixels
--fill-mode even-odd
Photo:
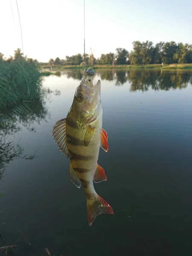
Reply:
[[[91,227],[84,190],[71,183],[69,159],[52,138],[81,79],[79,70],[44,78],[44,87],[60,93],[48,90],[32,113],[1,123],[4,243],[23,233],[31,245],[20,238],[15,256],[46,256],[45,247],[55,256],[191,256],[192,73],[111,70],[94,76],[101,79],[109,145],[98,161],[108,180],[94,186],[114,215],[99,215]]]

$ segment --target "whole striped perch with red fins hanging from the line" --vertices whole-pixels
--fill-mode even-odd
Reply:
[[[70,180],[78,188],[81,184],[84,187],[89,225],[101,213],[113,214],[112,207],[93,186],[93,181],[107,180],[97,163],[99,148],[108,151],[108,135],[102,128],[100,81],[93,88],[81,81],[67,117],[56,122],[52,132],[58,148],[70,158]]]

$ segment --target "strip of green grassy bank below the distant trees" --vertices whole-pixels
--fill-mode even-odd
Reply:
[[[87,65],[87,68],[89,66]],[[43,69],[50,69],[50,65],[42,65]],[[82,66],[62,66],[54,65],[53,70],[64,70],[64,69],[82,69]],[[93,69],[192,69],[192,64],[148,64],[148,65],[93,65]]]

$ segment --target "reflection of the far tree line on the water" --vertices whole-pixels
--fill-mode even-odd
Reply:
[[[130,83],[131,91],[152,90],[170,90],[186,88],[189,83],[192,84],[192,73],[184,73],[183,70],[96,70],[102,81],[114,81],[116,86],[122,86],[126,82]],[[65,74],[65,73],[64,73]],[[67,71],[67,78],[81,80],[86,75],[82,70]]]

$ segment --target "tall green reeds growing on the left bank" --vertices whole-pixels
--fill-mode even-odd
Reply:
[[[25,60],[23,67],[21,60],[0,61],[0,114],[20,102],[37,99],[40,95],[41,73],[38,65],[35,61]]]

